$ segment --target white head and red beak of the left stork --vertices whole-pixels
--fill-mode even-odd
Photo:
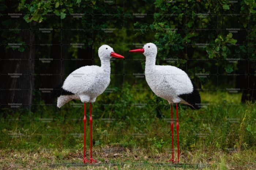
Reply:
[[[108,45],[102,45],[99,47],[98,55],[100,59],[110,59],[110,57],[123,59],[124,56],[114,52],[113,48]]]

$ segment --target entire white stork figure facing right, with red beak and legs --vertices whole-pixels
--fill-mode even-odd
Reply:
[[[110,58],[124,57],[113,51],[108,45],[99,47],[98,55],[101,60],[101,67],[99,66],[84,66],[73,71],[60,84],[56,90],[52,92],[52,97],[58,97],[57,107],[63,106],[72,99],[81,100],[84,103],[84,157],[83,162],[92,163],[97,162],[92,157],[92,123],[91,103],[95,102],[97,96],[102,94],[110,83]],[[90,103],[90,161],[86,159],[86,103]]]

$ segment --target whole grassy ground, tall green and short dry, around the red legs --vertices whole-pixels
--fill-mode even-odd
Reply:
[[[171,154],[170,106],[152,92],[134,89],[115,88],[93,104],[93,154],[102,163],[124,163],[104,166],[109,169],[168,169],[159,163]],[[255,105],[240,103],[241,94],[200,94],[202,109],[179,105],[180,162],[193,164],[180,168],[201,163],[205,169],[255,169]],[[158,109],[162,119],[156,117]],[[61,109],[42,102],[30,112],[3,110],[0,130],[0,168],[45,169],[49,163],[82,162],[83,105],[78,101]],[[174,135],[177,149],[175,126]],[[89,121],[86,142],[89,148]]]

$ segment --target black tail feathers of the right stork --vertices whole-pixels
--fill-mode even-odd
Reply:
[[[192,83],[193,84],[193,83]],[[179,97],[185,100],[187,103],[191,104],[193,110],[199,110],[201,107],[201,97],[199,91],[195,89],[195,85],[193,84],[193,91],[189,94],[181,94]]]

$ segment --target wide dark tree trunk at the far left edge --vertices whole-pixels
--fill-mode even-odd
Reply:
[[[35,23],[33,23],[35,24]],[[20,35],[26,44],[25,51],[9,50],[4,57],[3,71],[5,72],[4,83],[1,84],[1,107],[31,108],[34,87],[34,56],[35,34],[29,30],[23,30]],[[9,60],[16,59],[16,60]],[[11,65],[11,66],[10,66]]]

